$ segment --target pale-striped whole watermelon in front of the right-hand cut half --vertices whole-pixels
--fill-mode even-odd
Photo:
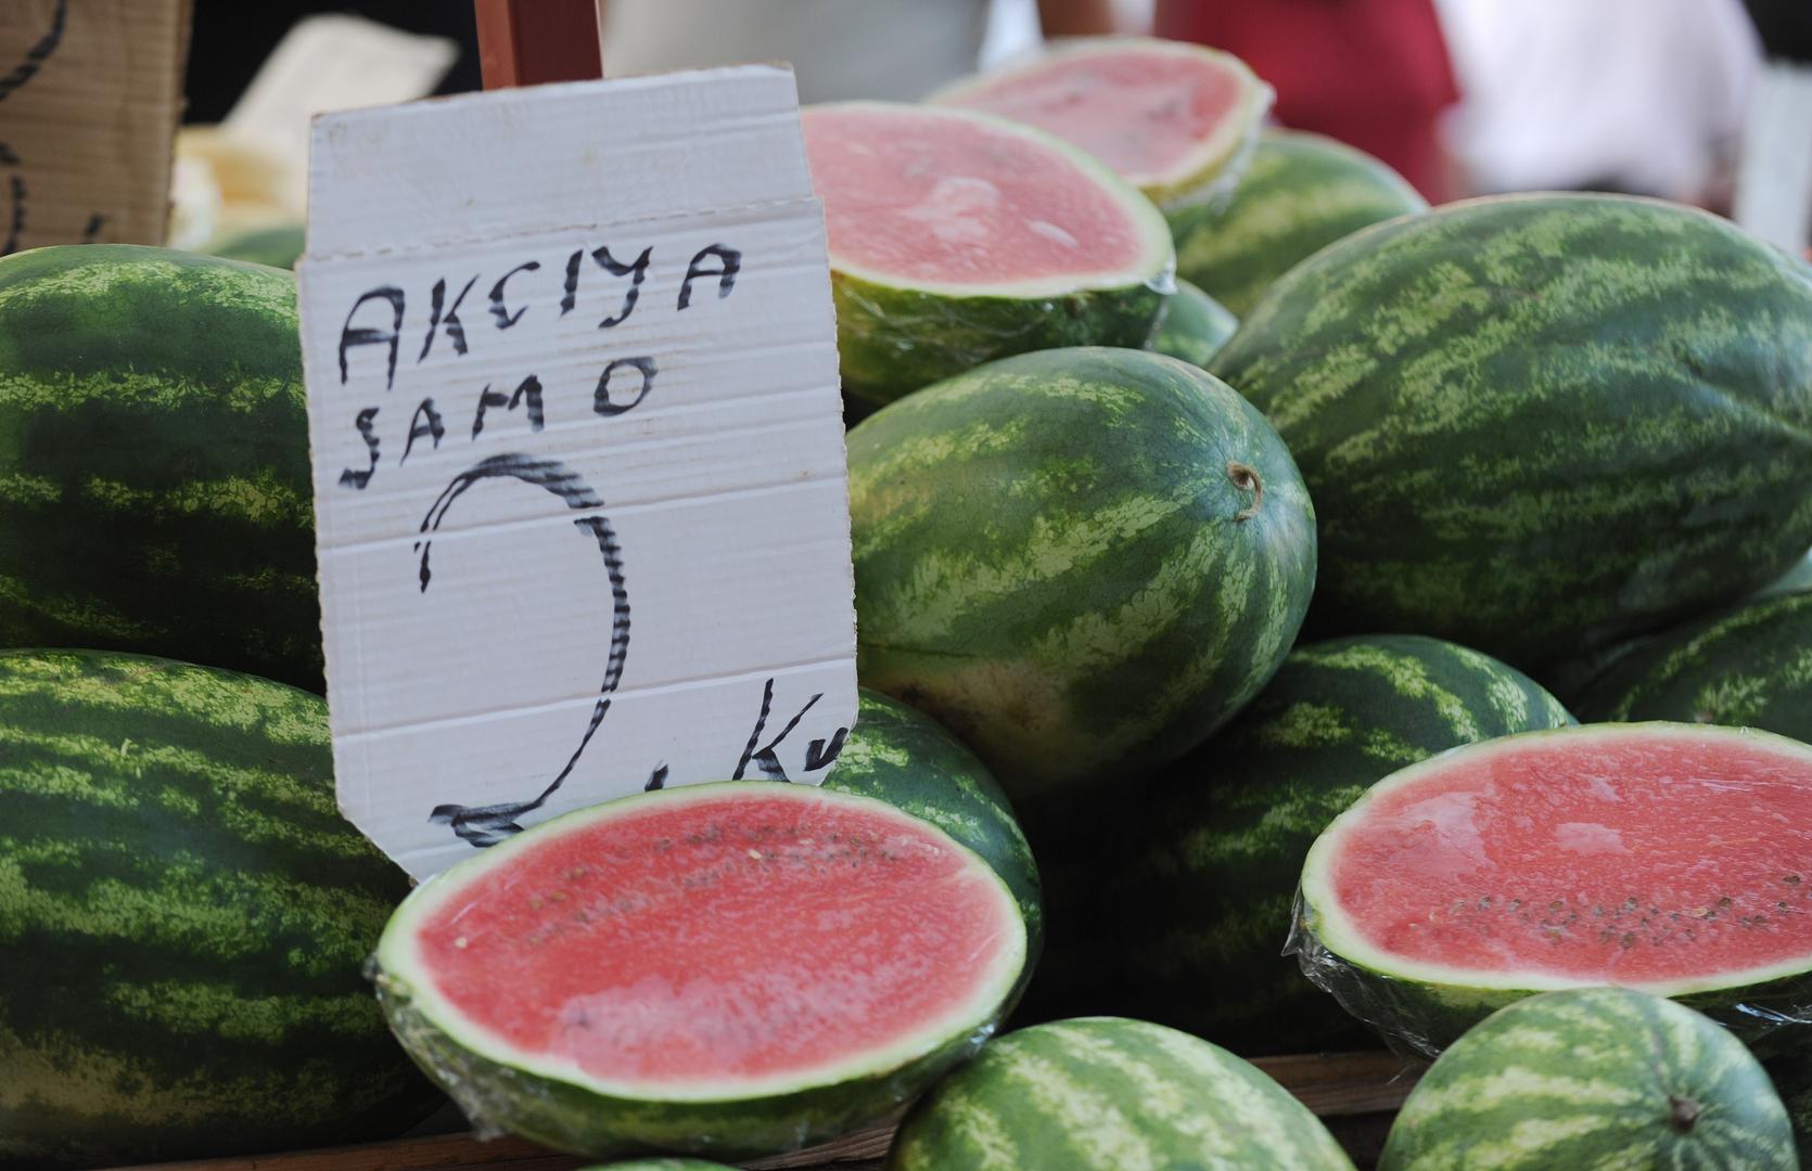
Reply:
[[[1520,1001],[1402,1104],[1379,1171],[1794,1171],[1761,1064],[1714,1021],[1624,988]]]

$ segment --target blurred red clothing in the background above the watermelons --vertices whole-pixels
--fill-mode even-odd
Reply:
[[[1243,58],[1277,90],[1277,121],[1446,194],[1435,119],[1459,85],[1433,0],[1158,0],[1156,33]]]

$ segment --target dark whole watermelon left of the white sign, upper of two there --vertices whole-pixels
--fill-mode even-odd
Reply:
[[[294,277],[125,244],[0,259],[0,646],[323,690]]]

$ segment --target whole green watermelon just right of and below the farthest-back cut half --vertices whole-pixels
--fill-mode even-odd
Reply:
[[[1171,214],[1176,271],[1245,317],[1277,277],[1359,228],[1426,212],[1410,181],[1321,134],[1267,130],[1232,201]]]

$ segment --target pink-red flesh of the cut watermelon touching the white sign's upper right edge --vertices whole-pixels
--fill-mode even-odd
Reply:
[[[1022,127],[852,101],[805,110],[805,143],[843,271],[1029,295],[1040,284],[1125,284],[1156,266],[1152,223],[1127,205],[1136,195]]]

